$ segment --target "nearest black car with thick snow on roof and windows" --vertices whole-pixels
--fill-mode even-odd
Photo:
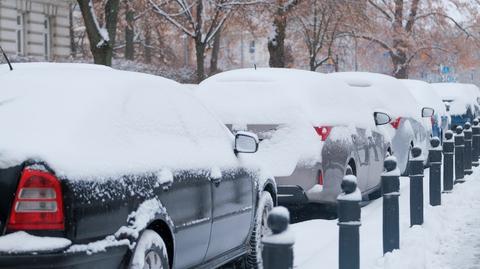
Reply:
[[[242,160],[256,135],[161,77],[40,63],[0,80],[0,268],[261,262],[276,186]]]

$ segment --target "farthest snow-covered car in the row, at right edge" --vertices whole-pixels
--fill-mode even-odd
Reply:
[[[450,128],[463,126],[479,115],[480,91],[475,85],[462,83],[432,83],[450,114]]]

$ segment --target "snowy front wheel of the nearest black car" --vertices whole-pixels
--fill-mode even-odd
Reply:
[[[271,233],[267,226],[268,213],[273,209],[273,199],[269,192],[263,191],[258,200],[255,213],[255,223],[250,236],[248,251],[245,259],[247,268],[262,268],[262,238]]]

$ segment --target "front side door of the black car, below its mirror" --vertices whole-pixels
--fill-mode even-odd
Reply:
[[[244,245],[255,209],[252,177],[242,170],[218,172],[210,178],[213,223],[206,261]]]

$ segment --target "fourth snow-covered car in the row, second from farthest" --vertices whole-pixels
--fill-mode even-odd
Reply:
[[[432,135],[443,141],[443,134],[448,130],[450,117],[445,108],[442,98],[437,94],[433,86],[421,80],[402,80],[410,90],[417,102],[423,107],[431,107],[435,110],[432,118],[424,118],[431,121]]]

